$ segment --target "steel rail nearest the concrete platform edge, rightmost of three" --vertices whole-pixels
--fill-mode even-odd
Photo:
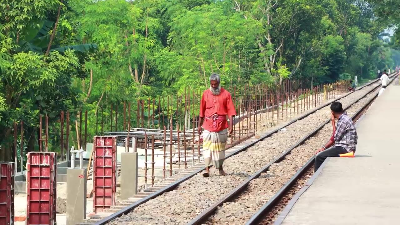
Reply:
[[[388,85],[390,85],[393,81],[394,78],[396,78],[396,76],[398,75],[394,75],[392,76],[393,79],[389,82]],[[379,86],[377,87],[379,88]],[[374,88],[374,90],[376,90],[377,88]],[[371,91],[372,92],[372,91]],[[364,96],[365,97],[365,96]],[[362,97],[362,98],[364,98]],[[369,108],[369,106],[372,104],[372,102],[374,102],[374,100],[378,97],[378,93],[376,93],[376,95],[374,97],[372,97],[370,100],[368,100],[368,102],[366,102],[366,104],[364,104],[364,106],[362,106],[359,110],[357,110],[356,113],[354,113],[354,115],[352,115],[352,120],[355,123],[360,116],[363,114],[363,112]],[[361,98],[360,98],[361,99]],[[360,100],[359,99],[359,100]],[[358,101],[358,100],[357,100]],[[356,103],[356,102],[354,102]],[[353,104],[354,104],[353,103]],[[351,105],[350,105],[351,106]],[[349,108],[350,106],[346,107]],[[326,121],[326,123],[324,125],[322,125],[320,127],[320,129],[322,129],[322,127],[324,127],[327,123],[329,123],[330,120]],[[312,135],[314,136],[314,135]],[[309,136],[308,138],[312,137]],[[265,205],[263,205],[259,211],[257,211],[257,213],[255,213],[246,223],[246,225],[256,225],[259,224],[260,221],[262,220],[262,218],[264,218],[266,216],[266,213],[268,213],[269,211],[271,211],[274,206],[278,203],[278,201],[280,199],[282,199],[282,197],[284,197],[284,195],[290,190],[291,187],[293,187],[293,185],[296,183],[296,181],[298,179],[301,178],[301,176],[306,173],[308,171],[308,169],[310,169],[310,167],[312,167],[312,164],[314,163],[314,159],[315,159],[315,155],[313,157],[311,157],[310,160],[307,161],[307,163],[300,168],[297,173],[295,175],[293,175],[293,177],[267,202],[265,203]],[[284,219],[284,218],[283,218]],[[282,221],[283,221],[282,219]]]

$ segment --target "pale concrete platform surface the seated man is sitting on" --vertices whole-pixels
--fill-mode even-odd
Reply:
[[[355,158],[328,158],[282,225],[400,224],[400,86],[356,124]]]

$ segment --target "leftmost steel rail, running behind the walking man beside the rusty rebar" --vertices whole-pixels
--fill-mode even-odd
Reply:
[[[378,82],[378,81],[379,81],[379,79],[376,79],[376,80],[374,80],[374,81],[372,81],[372,82],[370,82],[370,83],[364,84],[363,86],[360,86],[360,88],[356,89],[355,91],[361,90],[362,88],[365,88],[365,87],[367,87],[367,86],[370,86],[370,85],[372,85],[372,84],[375,84],[375,83]],[[227,156],[225,157],[225,159],[227,159],[227,158],[229,158],[229,157],[232,157],[233,155],[236,155],[236,154],[238,154],[238,153],[240,153],[240,152],[242,152],[242,151],[245,151],[246,149],[248,149],[248,148],[252,147],[253,145],[255,145],[256,143],[258,143],[259,141],[262,141],[262,140],[264,140],[264,139],[266,139],[266,138],[272,136],[273,134],[277,133],[280,129],[285,128],[285,127],[288,127],[289,125],[292,125],[293,123],[296,123],[297,121],[300,121],[300,120],[302,120],[302,119],[308,117],[309,115],[311,115],[311,114],[313,114],[314,112],[320,110],[321,108],[324,108],[324,107],[328,106],[329,104],[331,104],[332,102],[337,101],[337,100],[340,100],[340,99],[342,99],[342,98],[348,96],[348,95],[351,94],[351,93],[353,93],[353,92],[348,92],[348,93],[346,93],[346,94],[344,94],[344,95],[342,95],[342,96],[340,96],[340,97],[338,97],[338,98],[336,98],[336,99],[334,99],[334,100],[330,100],[329,102],[327,102],[327,103],[325,103],[325,104],[322,104],[321,106],[318,106],[317,108],[311,110],[310,112],[308,112],[308,113],[306,113],[306,114],[304,114],[304,115],[302,115],[302,116],[300,116],[300,117],[298,117],[298,118],[296,118],[296,119],[290,121],[289,123],[287,123],[287,124],[285,124],[285,125],[282,125],[282,126],[278,127],[277,129],[271,131],[271,132],[268,133],[268,134],[265,134],[265,135],[261,136],[259,139],[253,141],[252,143],[248,143],[247,145],[242,146],[240,149],[238,149],[238,150],[236,150],[236,151],[230,153],[229,155],[227,155]],[[210,166],[210,167],[211,167],[211,166]],[[106,223],[112,221],[113,219],[116,219],[117,217],[121,217],[122,215],[126,215],[126,214],[130,213],[130,211],[132,211],[134,208],[138,207],[139,205],[142,205],[143,203],[146,203],[147,201],[149,201],[149,200],[151,200],[151,199],[154,199],[154,198],[156,198],[156,197],[158,197],[158,196],[160,196],[160,195],[162,195],[162,194],[164,194],[164,193],[166,193],[166,192],[168,192],[168,191],[174,190],[175,187],[178,186],[180,183],[182,183],[182,182],[184,182],[184,181],[186,181],[186,180],[188,180],[188,179],[194,177],[196,174],[202,172],[205,168],[206,168],[206,167],[203,167],[203,168],[201,168],[201,169],[198,169],[198,170],[196,170],[196,171],[190,173],[189,175],[186,175],[185,177],[182,177],[182,178],[179,179],[178,181],[175,181],[174,183],[171,183],[170,185],[164,187],[163,189],[160,189],[160,190],[154,192],[153,194],[148,195],[148,196],[146,196],[146,197],[140,199],[139,201],[136,201],[136,202],[132,203],[131,205],[128,205],[128,206],[125,207],[124,209],[121,209],[120,211],[118,211],[118,212],[116,212],[116,213],[113,213],[113,214],[111,214],[111,215],[109,215],[109,216],[107,216],[107,217],[104,217],[103,219],[101,219],[101,220],[99,220],[99,221],[96,221],[95,223],[91,223],[91,224],[94,224],[94,225],[104,225],[104,224],[106,224]],[[88,223],[85,223],[85,224],[88,224]]]

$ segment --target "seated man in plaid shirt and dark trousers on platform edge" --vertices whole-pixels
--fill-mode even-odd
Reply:
[[[330,105],[330,110],[332,110],[331,120],[334,131],[334,139],[332,140],[331,138],[324,147],[318,149],[315,156],[314,171],[317,171],[328,157],[340,157],[340,154],[356,151],[356,127],[354,127],[352,119],[347,115],[346,112],[343,111],[342,103],[333,102]],[[336,128],[334,125],[335,119],[338,119],[338,125]],[[334,146],[330,147],[333,143]]]

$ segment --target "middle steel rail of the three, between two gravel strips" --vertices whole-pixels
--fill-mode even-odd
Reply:
[[[396,75],[394,75],[396,76]],[[394,79],[392,79],[393,81]],[[391,81],[391,82],[392,82]],[[371,83],[372,84],[372,83]],[[368,91],[366,94],[364,94],[363,96],[361,96],[360,98],[358,98],[357,100],[355,100],[354,102],[352,102],[351,104],[349,104],[346,108],[344,108],[344,110],[347,110],[348,108],[350,108],[353,104],[355,104],[356,102],[358,102],[359,100],[361,100],[362,98],[364,98],[365,96],[367,96],[368,94],[370,94],[371,92],[375,91],[377,88],[379,88],[380,86],[377,86],[376,88],[373,88],[372,90]],[[223,203],[228,202],[230,199],[234,198],[236,195],[240,194],[246,187],[247,185],[250,183],[250,181],[256,179],[257,177],[259,177],[262,173],[266,172],[269,167],[272,164],[275,163],[279,163],[280,161],[284,160],[285,156],[290,154],[290,152],[295,149],[296,147],[302,145],[306,140],[308,140],[310,137],[316,135],[316,133],[318,133],[318,131],[320,131],[320,129],[322,129],[327,123],[330,122],[330,119],[326,120],[322,125],[320,125],[320,127],[318,127],[317,129],[315,129],[314,131],[312,131],[310,134],[308,134],[306,137],[304,137],[303,139],[301,139],[300,141],[298,141],[296,144],[292,145],[291,147],[289,147],[288,150],[286,150],[284,153],[282,153],[280,156],[278,156],[276,159],[272,160],[271,162],[269,162],[266,166],[262,167],[260,170],[258,170],[256,173],[254,173],[251,177],[249,177],[248,179],[246,179],[245,181],[243,181],[240,185],[236,186],[236,188],[234,190],[232,190],[230,193],[228,193],[227,195],[225,195],[222,199],[220,199],[219,201],[217,201],[216,203],[214,203],[213,205],[211,205],[208,209],[206,209],[205,211],[203,211],[200,215],[198,215],[196,218],[194,218],[192,221],[190,221],[189,223],[187,223],[187,225],[195,225],[195,224],[201,224],[202,222],[205,222],[205,220],[208,218],[208,216],[210,216],[212,213],[214,213],[214,211],[218,208],[218,206],[222,205]],[[286,187],[286,185],[285,185]]]

